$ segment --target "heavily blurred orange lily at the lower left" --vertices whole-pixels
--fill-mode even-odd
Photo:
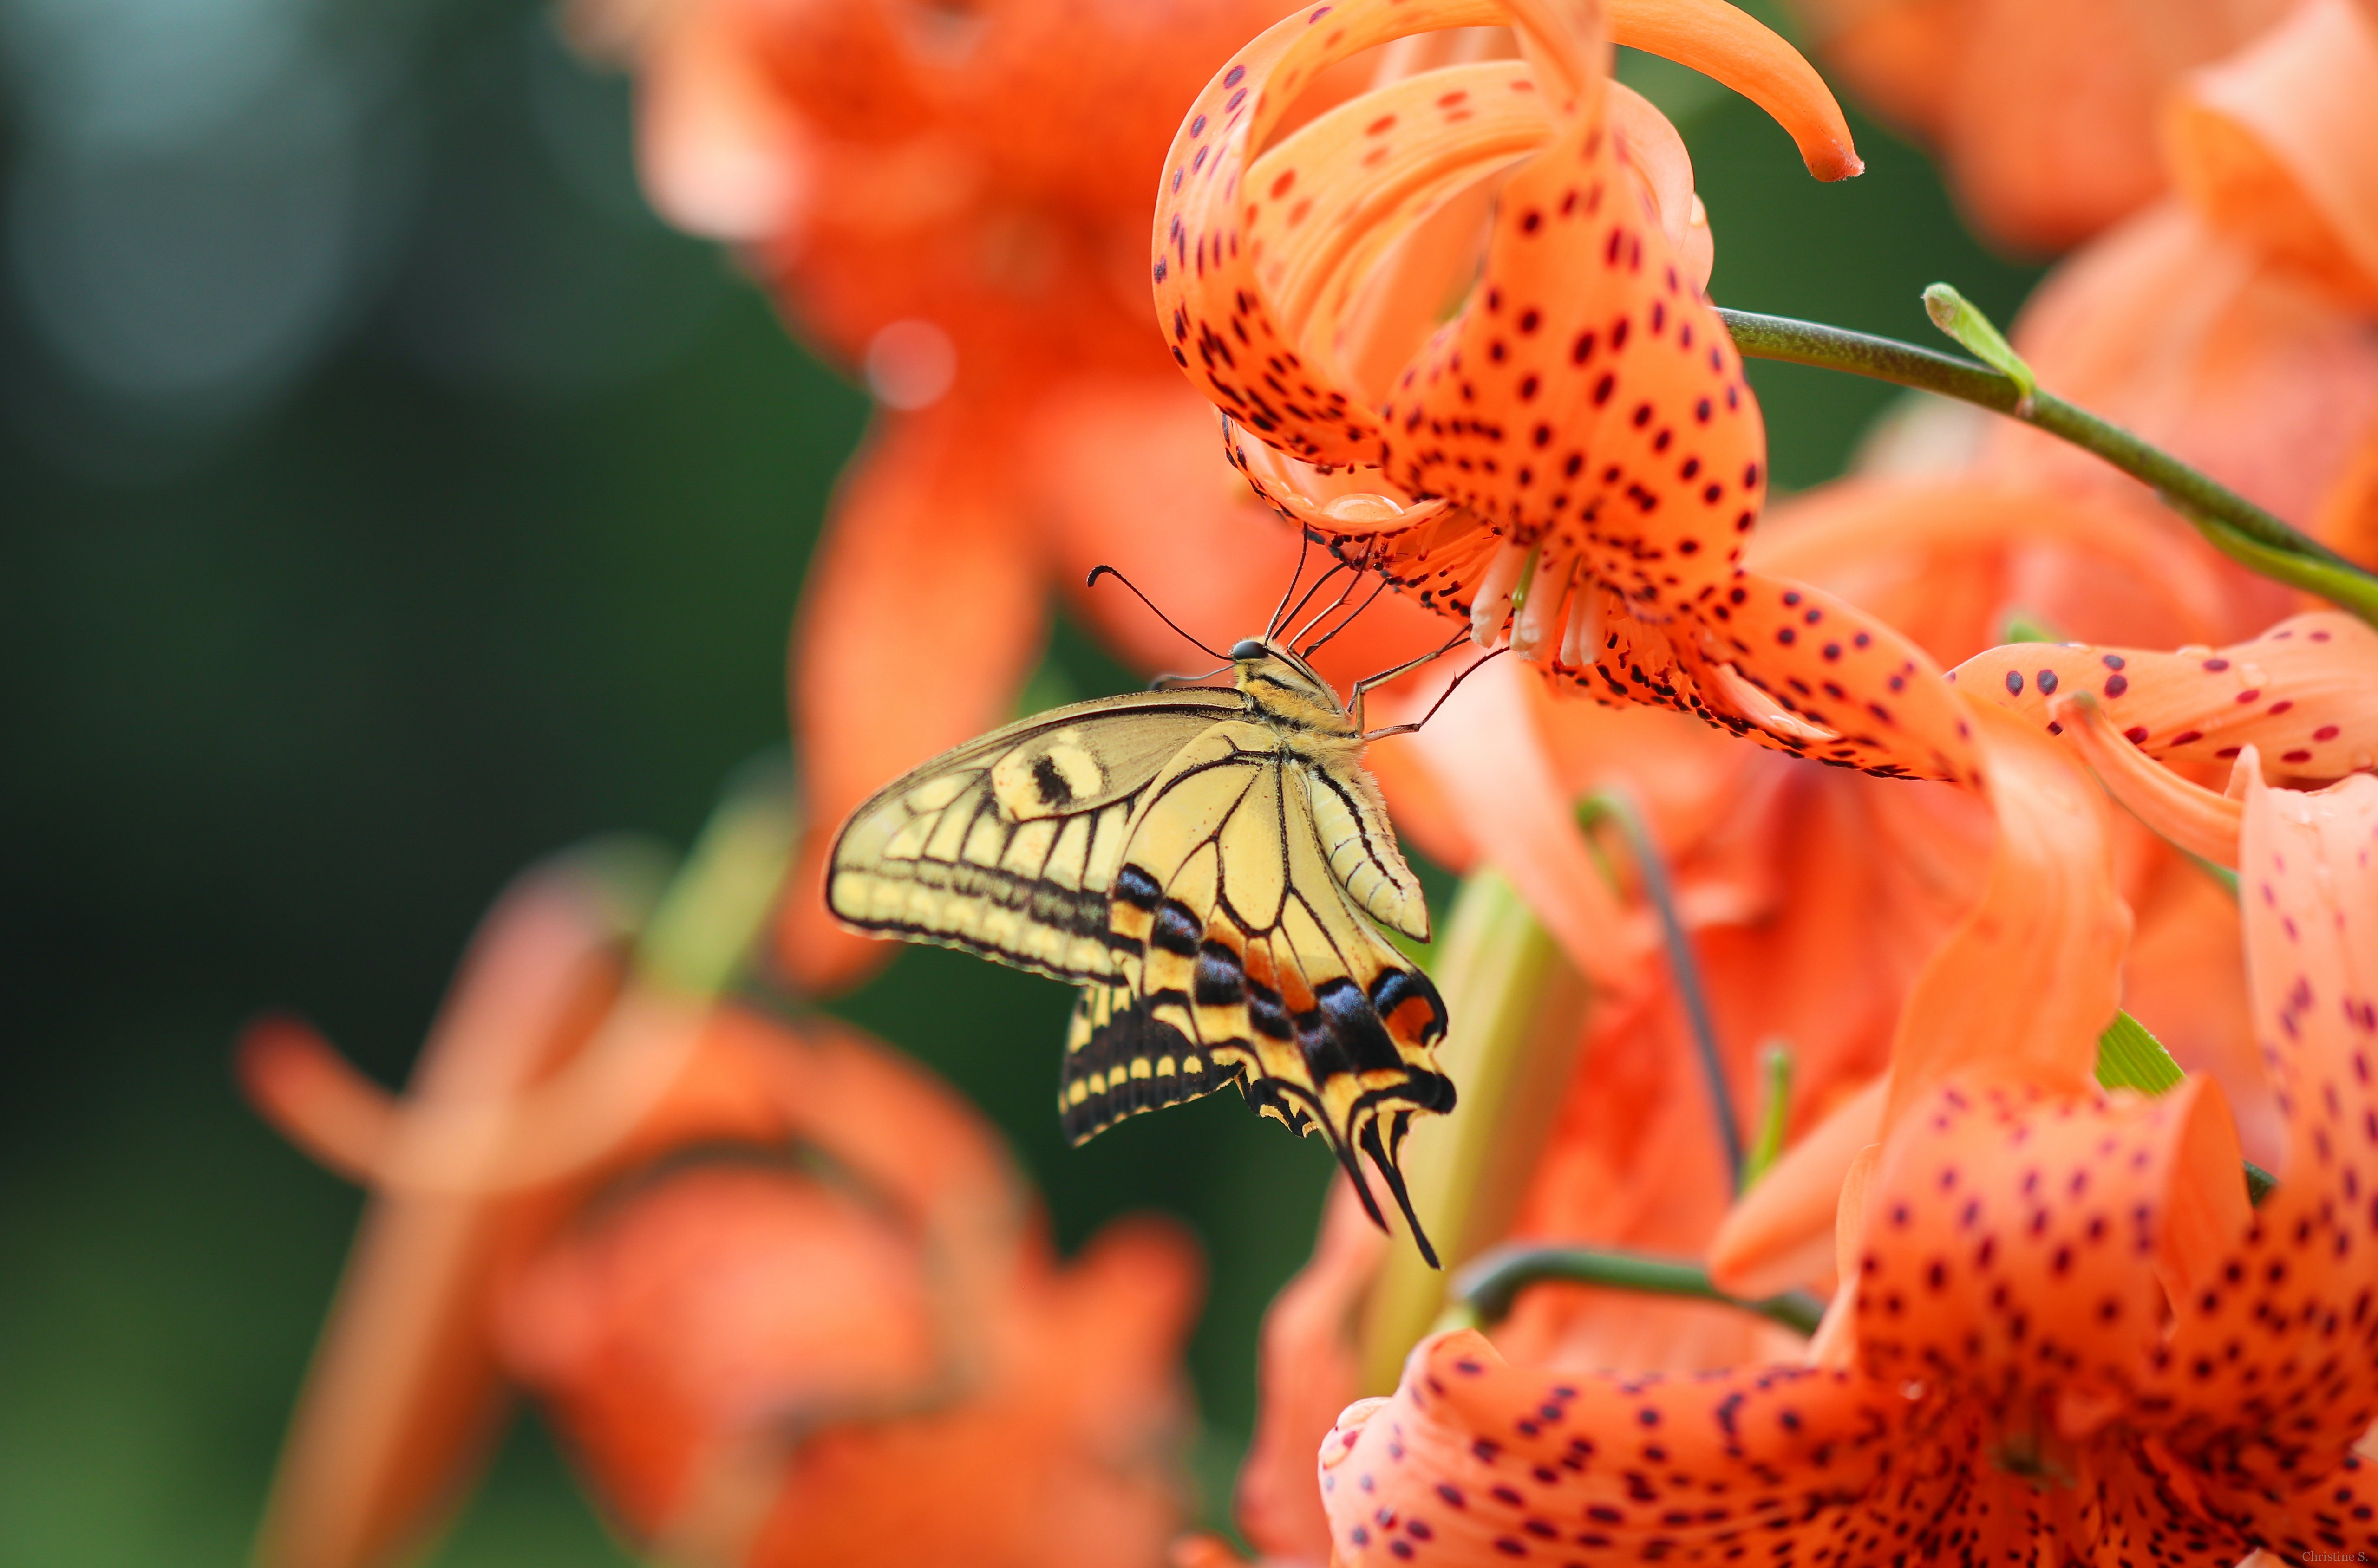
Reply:
[[[623,988],[606,903],[523,879],[407,1098],[300,1024],[247,1038],[266,1117],[373,1188],[259,1561],[414,1551],[514,1390],[671,1558],[1153,1561],[1189,1240],[1125,1221],[1056,1264],[946,1088],[823,1019]]]

